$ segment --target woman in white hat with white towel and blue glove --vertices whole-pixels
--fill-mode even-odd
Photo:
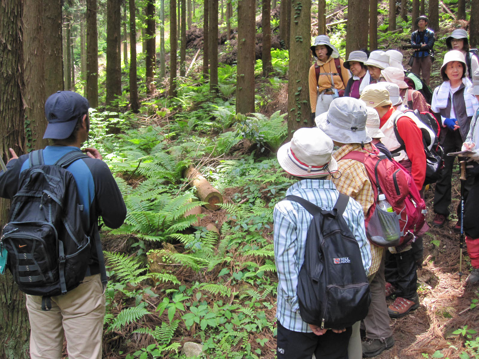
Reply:
[[[431,108],[433,112],[438,112],[441,115],[440,123],[443,127],[439,135],[439,144],[443,146],[444,153],[457,152],[461,149],[468,135],[472,116],[479,106],[476,97],[468,92],[472,83],[465,77],[465,69],[466,63],[460,51],[447,52],[441,67],[441,76],[444,81],[434,89]],[[454,158],[445,156],[441,177],[437,180],[434,188],[433,210],[436,215],[433,219],[433,226],[436,227],[442,227],[449,216]],[[473,179],[473,177],[469,177],[466,181],[465,199],[467,199]],[[459,211],[460,209],[457,208],[456,212],[459,213]],[[456,223],[455,229],[460,230],[459,222]]]

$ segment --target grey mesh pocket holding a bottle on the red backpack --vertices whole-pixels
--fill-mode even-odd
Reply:
[[[396,212],[387,212],[376,206],[374,214],[367,225],[367,236],[376,246],[399,246],[401,237],[399,230],[399,217]]]

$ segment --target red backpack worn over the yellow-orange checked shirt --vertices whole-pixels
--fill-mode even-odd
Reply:
[[[351,151],[341,159],[354,159],[363,163],[373,185],[376,201],[367,212],[366,229],[376,209],[377,197],[380,192],[386,196],[386,200],[399,216],[401,237],[398,247],[406,247],[417,236],[422,236],[427,231],[426,204],[421,198],[411,174],[404,167],[386,156],[359,151]]]

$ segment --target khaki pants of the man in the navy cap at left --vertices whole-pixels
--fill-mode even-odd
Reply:
[[[101,359],[105,295],[100,274],[85,277],[51,302],[52,309],[42,311],[42,297],[27,295],[31,358],[61,359],[65,334],[69,359]]]

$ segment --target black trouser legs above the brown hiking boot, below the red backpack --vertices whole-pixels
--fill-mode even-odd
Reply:
[[[401,253],[386,251],[384,275],[386,281],[397,288],[398,297],[413,299],[416,296],[418,276],[414,252],[414,249]]]

